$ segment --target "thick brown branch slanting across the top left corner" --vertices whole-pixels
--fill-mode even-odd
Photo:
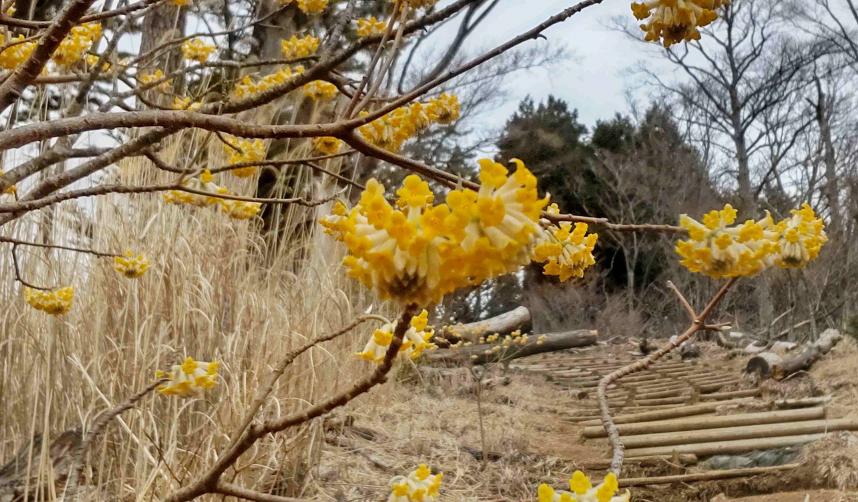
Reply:
[[[5,82],[0,84],[0,112],[17,101],[21,97],[21,93],[24,92],[24,88],[39,76],[48,59],[59,47],[60,42],[83,17],[93,2],[94,0],[73,0],[51,23],[30,57]]]

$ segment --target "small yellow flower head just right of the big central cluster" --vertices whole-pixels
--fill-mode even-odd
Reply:
[[[542,230],[533,249],[533,261],[545,263],[545,275],[556,275],[561,282],[583,277],[584,271],[596,263],[593,248],[598,234],[588,234],[586,223],[561,223]]]

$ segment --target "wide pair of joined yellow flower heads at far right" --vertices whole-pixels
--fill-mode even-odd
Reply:
[[[680,263],[714,278],[750,276],[772,265],[803,267],[828,241],[824,223],[807,203],[778,223],[769,214],[759,221],[735,222],[730,204],[704,215],[703,223],[681,215],[679,225],[689,238],[676,244]]]

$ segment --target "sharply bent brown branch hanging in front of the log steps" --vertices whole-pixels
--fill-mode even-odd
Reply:
[[[732,278],[727,281],[721,289],[715,293],[715,296],[709,300],[709,303],[706,304],[706,307],[703,308],[700,313],[694,313],[691,325],[685,330],[685,333],[678,336],[671,342],[669,342],[664,347],[660,348],[656,352],[653,352],[649,356],[634,363],[623,366],[622,368],[604,376],[601,380],[599,380],[599,386],[597,389],[597,395],[599,398],[599,411],[601,414],[602,425],[605,427],[605,432],[608,433],[608,440],[611,443],[611,448],[613,449],[613,455],[611,458],[611,471],[619,477],[620,472],[623,466],[623,457],[625,455],[625,448],[623,446],[623,441],[620,438],[620,431],[617,428],[616,423],[614,423],[614,419],[611,417],[611,410],[608,406],[608,386],[617,380],[623,378],[624,376],[631,375],[632,373],[637,373],[638,371],[643,371],[653,363],[669,354],[671,351],[675,350],[677,347],[682,345],[685,341],[689,340],[695,333],[703,329],[706,325],[706,319],[712,313],[716,306],[721,302],[724,298],[724,295],[727,294],[727,291],[736,283],[737,278]],[[693,312],[693,309],[692,309]]]

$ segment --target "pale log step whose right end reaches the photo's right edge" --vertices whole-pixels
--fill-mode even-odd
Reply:
[[[782,424],[743,425],[740,427],[722,427],[719,429],[641,434],[624,437],[623,444],[626,448],[644,448],[647,446],[714,443],[718,441],[735,441],[739,439],[798,436],[801,434],[854,430],[858,430],[858,420],[841,418],[832,420],[808,420],[804,422],[789,422]]]

